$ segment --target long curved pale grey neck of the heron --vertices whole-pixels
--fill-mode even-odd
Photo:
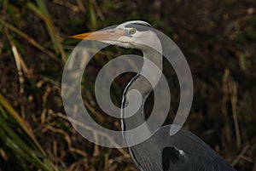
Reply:
[[[159,82],[162,71],[162,54],[156,52],[153,49],[143,52],[143,68],[136,77],[133,77],[125,88],[122,101],[122,130],[129,130],[132,128],[137,128],[139,125],[145,122],[144,116],[144,103],[147,100],[148,94]],[[152,66],[153,65],[153,66]],[[158,68],[158,71],[156,71]],[[149,81],[150,80],[150,83]],[[130,90],[136,89],[142,95],[143,102],[139,109],[136,111],[132,117],[125,118],[125,106],[128,105],[127,94]],[[127,115],[127,114],[126,114]]]

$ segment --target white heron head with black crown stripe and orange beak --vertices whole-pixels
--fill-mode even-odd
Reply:
[[[132,20],[112,29],[87,32],[72,36],[77,39],[97,40],[124,48],[145,48],[144,44],[154,42],[157,37],[152,26],[142,20]]]

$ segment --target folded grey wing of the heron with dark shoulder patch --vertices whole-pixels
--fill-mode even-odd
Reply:
[[[182,128],[169,136],[170,128],[160,128],[154,137],[161,146],[162,170],[236,171],[195,134]]]

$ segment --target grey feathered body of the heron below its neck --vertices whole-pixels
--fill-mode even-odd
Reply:
[[[151,138],[129,147],[142,171],[235,171],[205,142],[186,129],[169,135],[171,125],[160,128]]]

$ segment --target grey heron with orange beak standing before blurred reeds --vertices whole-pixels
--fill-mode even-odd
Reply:
[[[143,26],[143,27],[142,27]],[[137,48],[143,52],[143,59],[162,65],[162,55],[155,53],[152,48],[144,46],[145,42],[161,46],[152,26],[142,20],[127,21],[116,28],[88,32],[73,36],[73,38],[97,40],[124,48]],[[143,64],[141,72],[147,67]],[[152,86],[141,77],[140,73],[127,84],[122,100],[122,114],[125,115],[127,93],[131,89],[139,89],[143,102],[153,90]],[[122,131],[137,127],[145,122],[143,105],[133,117],[121,117]],[[177,134],[170,135],[170,125],[159,128],[148,140],[137,145],[128,145],[128,151],[137,168],[142,171],[235,171],[228,162],[220,157],[203,140],[188,130],[181,128]],[[125,134],[124,139],[126,141]]]

